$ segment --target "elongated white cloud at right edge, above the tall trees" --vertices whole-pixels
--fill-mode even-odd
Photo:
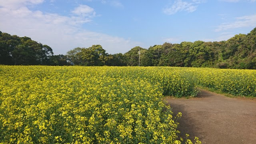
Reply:
[[[220,26],[217,26],[217,28],[214,31],[220,32],[232,28],[242,28],[248,26],[256,26],[256,14],[237,17],[236,21],[234,22],[222,23]]]

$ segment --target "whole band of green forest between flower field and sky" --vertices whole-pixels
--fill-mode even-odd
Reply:
[[[136,46],[122,54],[108,54],[100,45],[74,48],[54,55],[52,48],[28,37],[0,31],[0,64],[81,66],[180,66],[256,69],[256,28],[221,42],[164,43],[148,49]]]

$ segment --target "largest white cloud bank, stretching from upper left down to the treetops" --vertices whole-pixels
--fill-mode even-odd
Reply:
[[[92,21],[94,10],[86,6],[75,8],[70,16],[32,11],[28,4],[40,4],[33,0],[23,0],[18,3],[12,0],[15,7],[9,7],[11,2],[0,2],[0,28],[2,32],[28,36],[32,40],[47,44],[52,47],[54,54],[65,54],[75,47],[90,47],[100,44],[108,53],[127,52],[130,48],[141,45],[116,36],[110,36],[99,32],[84,30],[82,24]],[[34,3],[31,3],[33,1]],[[81,9],[80,9],[81,8]]]

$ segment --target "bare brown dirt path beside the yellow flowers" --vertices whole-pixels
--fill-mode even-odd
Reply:
[[[182,112],[178,130],[198,136],[202,144],[256,144],[256,100],[229,98],[200,90],[198,98],[165,98],[174,114]]]

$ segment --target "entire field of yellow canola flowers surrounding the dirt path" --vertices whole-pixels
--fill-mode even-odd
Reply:
[[[196,96],[198,85],[256,96],[256,71],[0,66],[0,144],[192,144],[162,98]]]

